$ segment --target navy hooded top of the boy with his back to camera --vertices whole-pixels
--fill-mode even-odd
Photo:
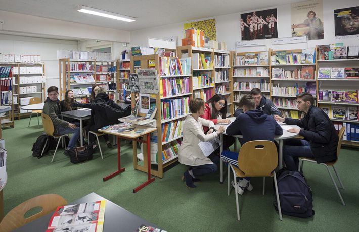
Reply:
[[[253,140],[269,140],[274,142],[275,135],[282,135],[283,130],[276,120],[258,109],[249,110],[228,126],[228,135],[243,135],[241,144]]]

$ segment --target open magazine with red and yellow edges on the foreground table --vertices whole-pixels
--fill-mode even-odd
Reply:
[[[59,206],[51,216],[46,232],[102,232],[106,201]]]

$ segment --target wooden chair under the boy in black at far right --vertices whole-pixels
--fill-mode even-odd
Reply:
[[[343,197],[342,197],[341,194],[340,194],[339,188],[338,188],[338,186],[337,186],[337,184],[336,184],[336,182],[335,182],[335,180],[334,180],[334,178],[333,178],[333,175],[332,175],[332,173],[331,173],[330,170],[329,170],[329,166],[332,166],[332,167],[333,167],[334,172],[335,172],[335,175],[337,176],[337,178],[338,178],[338,180],[339,180],[340,186],[341,186],[342,189],[344,189],[343,183],[341,182],[341,180],[340,180],[340,178],[339,178],[339,175],[338,175],[338,172],[337,172],[337,170],[336,170],[335,167],[334,167],[334,164],[336,164],[336,162],[338,162],[338,159],[339,159],[341,142],[342,142],[342,140],[343,140],[344,132],[345,132],[345,127],[342,127],[342,128],[340,129],[340,131],[339,131],[339,141],[338,141],[338,147],[337,147],[337,159],[336,159],[335,161],[325,162],[325,163],[317,163],[317,161],[316,161],[315,159],[306,158],[306,157],[305,157],[305,158],[304,158],[304,157],[300,157],[300,158],[299,158],[299,165],[298,165],[298,170],[299,170],[299,171],[302,171],[302,170],[303,170],[304,161],[311,162],[311,163],[317,163],[317,164],[320,164],[320,165],[325,166],[325,167],[327,168],[327,171],[328,171],[328,173],[329,173],[329,176],[330,176],[330,178],[332,179],[332,182],[333,182],[333,184],[334,184],[334,187],[335,187],[335,189],[337,190],[337,193],[338,193],[339,198],[340,198],[340,200],[341,200],[341,203],[342,203],[343,205],[345,205],[345,202],[344,202],[344,200],[343,200]]]

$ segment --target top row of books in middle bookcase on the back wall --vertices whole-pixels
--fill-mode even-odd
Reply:
[[[301,53],[287,53],[287,51],[276,51],[275,55],[272,56],[272,65],[299,65],[315,63],[315,48],[302,49]]]

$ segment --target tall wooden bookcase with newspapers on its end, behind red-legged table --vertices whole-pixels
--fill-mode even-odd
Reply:
[[[154,64],[152,68],[157,70],[159,75],[160,92],[151,94],[151,105],[156,105],[155,114],[157,131],[152,134],[151,139],[151,173],[157,177],[163,177],[163,169],[177,161],[178,148],[182,140],[182,127],[184,120],[189,113],[188,103],[192,98],[192,75],[189,74],[169,74],[163,71],[163,66],[167,59],[176,59],[174,57],[160,57],[158,54],[131,56],[131,71],[134,72],[134,62],[140,63],[140,68],[149,68],[149,61]],[[154,61],[154,63],[153,63]],[[183,66],[182,66],[183,67]],[[190,67],[188,67],[190,68]],[[162,69],[162,70],[161,70]],[[170,86],[176,85],[177,89],[171,89]],[[179,86],[182,86],[181,88]],[[179,91],[179,90],[182,91]],[[132,107],[135,104],[134,93],[132,94]],[[174,108],[173,106],[182,106]],[[173,111],[172,111],[173,109]],[[171,111],[171,114],[169,113]],[[143,115],[139,113],[139,115]],[[165,128],[167,127],[167,134]],[[168,129],[169,128],[169,129]],[[168,133],[172,132],[172,133]],[[157,143],[155,143],[157,139]],[[134,145],[136,148],[136,145]],[[145,153],[145,151],[143,152]],[[143,153],[133,158],[134,168],[147,172],[146,156]],[[156,155],[157,153],[157,155]],[[162,158],[164,157],[164,159]],[[139,160],[144,160],[144,166],[138,165]]]

